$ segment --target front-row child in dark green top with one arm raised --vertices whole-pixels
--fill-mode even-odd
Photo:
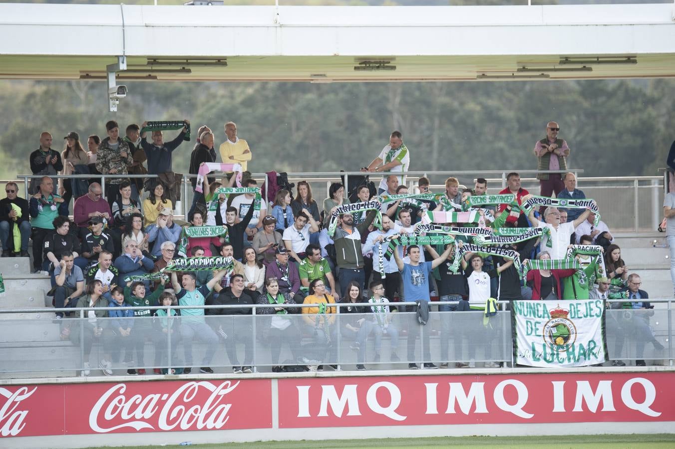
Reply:
[[[152,295],[145,296],[145,285],[140,280],[134,282],[127,282],[124,287],[124,302],[132,307],[150,307],[151,304],[156,304],[159,295],[164,291],[164,285],[160,284],[157,290]],[[133,345],[136,348],[136,364],[139,367],[145,366],[145,340],[152,337],[152,312],[150,309],[134,310],[134,339]],[[136,369],[128,369],[128,374],[136,374]],[[145,368],[139,368],[138,374],[145,374]]]

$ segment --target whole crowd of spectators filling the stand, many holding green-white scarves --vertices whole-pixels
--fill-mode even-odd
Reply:
[[[419,205],[396,201],[382,205],[383,213],[379,227],[373,226],[375,211],[340,214],[335,233],[329,235],[327,227],[336,208],[352,201],[365,202],[373,197],[368,185],[360,185],[353,192],[346,191],[342,183],[333,183],[328,196],[321,202],[313,197],[310,184],[300,181],[296,192],[279,189],[269,204],[259,202],[254,192],[227,198],[218,193],[219,187],[231,187],[236,176],[224,173],[216,181],[215,173],[204,177],[203,194],[198,185],[192,184],[194,200],[186,221],[176,222],[173,216],[175,191],[171,175],[173,152],[182,144],[189,129],[189,121],[170,142],[164,142],[162,131],[152,131],[151,140],[142,132],[147,123],[128,125],[126,136],[119,138],[119,126],[115,121],[106,123],[107,137],[89,136],[88,152],[84,151],[78,133],[70,132],[64,138],[64,148],[58,152],[51,148],[49,133],[40,136],[40,148],[30,155],[30,165],[36,177],[30,185],[28,201],[18,196],[18,185],[7,183],[7,198],[0,200],[0,237],[3,257],[28,257],[29,237],[32,239],[32,264],[36,271],[51,276],[56,307],[94,307],[90,318],[108,316],[113,318],[111,326],[99,327],[90,320],[88,334],[94,338],[105,337],[105,351],[99,367],[103,373],[111,373],[111,363],[119,361],[121,349],[125,349],[124,361],[146,366],[143,348],[146,340],[157,343],[155,351],[155,373],[161,373],[159,366],[166,358],[161,340],[165,334],[180,336],[184,347],[185,367],[192,369],[192,340],[204,342],[207,351],[200,363],[200,371],[211,373],[209,367],[221,336],[227,333],[225,348],[235,373],[252,370],[252,330],[250,323],[237,320],[238,315],[251,313],[250,307],[222,309],[181,309],[182,320],[177,328],[172,327],[166,311],[149,309],[130,311],[127,306],[149,307],[154,305],[252,305],[269,307],[260,313],[273,316],[271,338],[277,340],[271,345],[275,371],[281,369],[279,351],[281,341],[291,338],[298,340],[303,334],[313,339],[311,353],[297,354],[291,347],[294,360],[302,358],[308,365],[319,365],[334,355],[335,345],[331,344],[338,334],[350,338],[351,347],[356,351],[357,369],[365,369],[365,347],[367,338],[375,338],[375,355],[371,361],[381,361],[380,350],[383,336],[390,340],[389,360],[399,361],[398,340],[404,329],[391,313],[400,309],[400,301],[429,301],[439,296],[443,301],[458,301],[457,305],[443,305],[439,311],[470,311],[470,304],[485,303],[489,298],[501,300],[516,299],[567,299],[564,293],[564,278],[571,274],[565,270],[531,270],[527,276],[527,287],[520,288],[518,273],[512,261],[498,257],[483,258],[468,253],[462,257],[462,270],[450,270],[458,243],[435,247],[410,245],[398,246],[391,260],[382,254],[388,245],[387,237],[410,234],[422,220],[426,210],[441,210],[441,204],[427,202]],[[535,144],[535,155],[541,171],[566,170],[566,158],[570,155],[567,143],[558,138],[560,127],[555,122],[547,124],[547,136]],[[219,146],[221,162],[238,163],[246,170],[246,163],[252,154],[245,140],[237,136],[236,124],[225,124],[226,139]],[[196,175],[202,164],[216,162],[215,138],[207,126],[198,130],[197,143],[190,156],[190,173]],[[381,150],[362,171],[394,172],[396,175],[383,177],[377,192],[396,195],[408,193],[405,173],[410,161],[410,152],[403,143],[399,131],[391,133],[389,144]],[[147,168],[146,168],[147,166]],[[400,173],[400,174],[398,174]],[[87,174],[90,178],[61,177],[58,182],[51,175]],[[128,178],[128,174],[151,174],[157,177]],[[97,176],[116,175],[105,180],[105,192]],[[537,177],[541,184],[541,195],[564,199],[583,199],[585,194],[576,188],[573,173],[562,175],[541,173]],[[518,205],[529,198],[530,193],[520,186],[518,173],[509,173],[508,186],[499,193],[513,193]],[[418,179],[416,191],[429,193],[429,179]],[[257,181],[244,178],[243,187],[257,187]],[[460,185],[455,177],[445,180],[443,193],[451,204],[462,204],[468,196],[483,195],[487,192],[487,180],[479,177],[475,184]],[[144,193],[146,192],[146,193]],[[145,198],[143,198],[145,197]],[[72,205],[72,218],[68,211]],[[259,204],[261,203],[261,204]],[[637,274],[630,274],[621,258],[620,248],[614,244],[614,237],[604,222],[594,226],[591,210],[577,208],[558,209],[542,207],[539,211],[524,214],[512,204],[487,206],[495,218],[506,214],[506,227],[545,228],[541,239],[530,239],[513,249],[519,251],[522,259],[545,260],[563,259],[568,245],[587,243],[604,248],[606,276],[597,279],[586,293],[576,299],[601,297],[605,299],[607,286],[630,292],[630,298],[647,299]],[[504,217],[502,217],[504,218]],[[453,223],[443,223],[453,225]],[[220,227],[219,235],[206,233],[206,237],[186,237],[185,253],[179,254],[184,229],[187,227]],[[467,241],[464,237],[463,241]],[[175,258],[223,256],[234,259],[229,270],[170,272],[170,278],[151,280],[147,274],[161,272]],[[574,271],[574,270],[572,270]],[[167,272],[167,273],[169,273]],[[133,276],[138,276],[134,278]],[[145,276],[145,277],[144,277]],[[127,280],[130,279],[130,280]],[[636,280],[637,279],[637,280]],[[637,284],[636,284],[637,282]],[[636,287],[637,286],[637,287]],[[633,289],[633,287],[636,287]],[[365,293],[368,292],[368,293]],[[342,312],[369,313],[371,318],[344,320],[342,328],[334,326],[336,307],[332,303],[350,303]],[[275,307],[281,304],[306,304],[312,307]],[[351,303],[354,303],[352,307]],[[645,301],[628,303],[632,309],[650,309]],[[97,307],[115,307],[114,311],[98,311]],[[626,306],[628,307],[628,306]],[[408,311],[419,311],[422,307],[408,307]],[[484,307],[483,307],[484,309]],[[401,310],[405,311],[405,310]],[[172,310],[171,313],[176,313]],[[303,313],[304,328],[288,321],[289,313]],[[59,311],[57,320],[68,313]],[[232,320],[227,332],[208,325],[207,315],[225,315]],[[321,319],[315,318],[321,316]],[[131,320],[132,317],[155,316],[150,320]],[[641,318],[642,319],[642,318]],[[62,320],[68,322],[70,320]],[[643,320],[644,321],[644,320]],[[649,318],[647,318],[647,323]],[[134,324],[136,323],[136,324]],[[153,324],[154,323],[154,324]],[[642,323],[642,322],[641,322]],[[446,323],[447,324],[447,323]],[[640,326],[639,326],[640,327]],[[79,332],[70,332],[70,324],[62,324],[63,338],[76,340]],[[659,342],[647,335],[644,326],[636,338],[642,342]],[[408,326],[407,338],[408,367],[417,369],[416,340],[421,341],[425,352],[424,367],[433,369],[429,353],[429,332],[420,332],[420,326]],[[441,332],[450,332],[441,318]],[[627,332],[627,331],[626,331]],[[130,338],[133,335],[133,338]],[[647,338],[649,337],[649,338]],[[476,338],[485,339],[489,358],[490,336],[482,332]],[[88,341],[92,338],[88,338]],[[119,342],[118,345],[110,341]],[[448,358],[448,338],[441,338],[441,357]],[[456,340],[456,351],[461,351]],[[245,357],[238,360],[236,345],[244,345]],[[470,345],[475,349],[475,345]],[[85,354],[90,353],[91,344],[84,346]],[[456,367],[475,366],[474,354],[469,351],[466,362],[457,362]],[[644,361],[639,361],[644,364]],[[614,365],[623,365],[614,361]],[[441,366],[448,363],[441,360]],[[486,367],[497,367],[499,363],[487,362]],[[88,375],[90,366],[82,371]],[[139,370],[144,373],[144,369]],[[134,374],[135,369],[128,373]],[[166,370],[165,370],[166,372]]]

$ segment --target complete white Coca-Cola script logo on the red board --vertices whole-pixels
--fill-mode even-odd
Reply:
[[[221,429],[232,404],[221,403],[239,382],[186,382],[173,393],[127,396],[127,385],[116,384],[101,395],[89,413],[93,431],[107,433],[125,427],[143,430]],[[210,392],[208,398],[200,400]],[[159,413],[159,415],[157,415]],[[157,415],[157,416],[156,416]],[[121,421],[121,422],[120,422]]]

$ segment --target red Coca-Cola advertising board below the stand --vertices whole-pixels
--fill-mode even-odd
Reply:
[[[0,387],[0,437],[265,429],[269,379]]]

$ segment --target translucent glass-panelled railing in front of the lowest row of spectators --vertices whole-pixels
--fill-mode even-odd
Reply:
[[[647,359],[672,366],[672,301],[675,300],[650,299],[651,303],[666,305],[667,308],[607,309],[605,327],[609,358],[626,361]],[[607,301],[616,302],[630,301]],[[431,304],[452,306],[457,303]],[[393,305],[412,306],[414,303]],[[297,311],[316,305],[281,307]],[[118,373],[124,373],[126,369],[150,371],[186,366],[209,366],[217,370],[250,366],[253,371],[270,371],[271,367],[280,365],[338,365],[338,369],[353,369],[357,363],[368,365],[369,369],[405,368],[406,363],[439,362],[450,363],[451,367],[455,363],[478,363],[481,367],[487,362],[514,366],[508,301],[500,301],[500,310],[490,318],[489,326],[483,323],[483,313],[477,311],[432,311],[426,326],[418,324],[416,313],[399,311],[389,314],[391,329],[384,333],[375,329],[378,325],[373,322],[373,313],[344,313],[346,307],[354,307],[354,304],[337,303],[328,307],[335,307],[338,313],[289,313],[284,316],[261,313],[262,309],[269,309],[269,305],[125,307],[130,310],[165,309],[169,317],[171,309],[211,311],[207,313],[251,309],[251,314],[117,319],[92,318],[88,311],[119,310],[119,307],[2,309],[0,357],[4,363],[0,365],[0,375],[49,371],[50,376],[72,376],[74,371],[79,374],[85,369],[84,363],[88,362],[92,375],[97,376],[101,372],[96,371],[101,359],[110,361],[111,369],[122,371]],[[51,311],[70,311],[77,318],[45,320],[25,315]],[[651,316],[641,315],[645,311]],[[12,314],[16,313],[21,313],[22,318],[12,319]],[[163,319],[166,320],[164,325]],[[197,322],[203,320],[203,324],[194,324],[195,319]],[[370,336],[359,336],[353,330],[358,327],[356,322],[360,319],[365,320],[361,326],[371,327]],[[119,324],[115,320],[122,320],[124,326],[131,328],[130,336],[121,336],[114,328]],[[65,328],[69,332],[62,340],[60,336]],[[101,329],[100,333],[94,332],[94,328]],[[164,329],[172,331],[165,332]],[[656,344],[651,342],[652,337],[664,349],[656,349]],[[356,341],[360,345],[356,345]],[[277,343],[280,347],[275,346]],[[124,359],[121,357],[123,352]]]

